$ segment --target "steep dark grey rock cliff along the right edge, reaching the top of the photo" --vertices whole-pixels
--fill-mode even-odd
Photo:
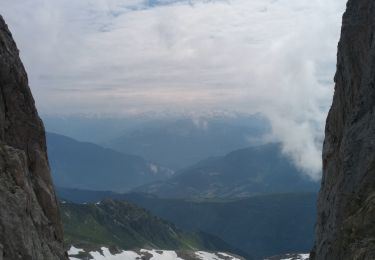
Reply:
[[[375,259],[375,1],[349,0],[312,259]]]

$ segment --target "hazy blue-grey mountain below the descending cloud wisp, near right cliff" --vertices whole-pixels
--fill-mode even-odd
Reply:
[[[281,146],[267,144],[203,160],[171,178],[135,192],[164,198],[238,198],[284,192],[317,192],[319,183],[299,171]]]

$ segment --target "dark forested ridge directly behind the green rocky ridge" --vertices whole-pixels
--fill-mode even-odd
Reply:
[[[160,199],[144,194],[57,190],[60,198],[80,203],[102,198],[129,201],[184,230],[212,234],[256,259],[290,252],[309,252],[313,245],[316,193],[197,201]]]

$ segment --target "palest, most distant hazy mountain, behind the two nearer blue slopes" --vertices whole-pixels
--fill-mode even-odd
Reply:
[[[268,123],[258,116],[179,118],[128,129],[106,145],[180,170],[202,159],[245,148],[268,131]]]

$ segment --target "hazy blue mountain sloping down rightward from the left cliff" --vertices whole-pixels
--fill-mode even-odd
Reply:
[[[58,134],[47,133],[47,145],[57,186],[124,192],[174,174],[139,156]]]

